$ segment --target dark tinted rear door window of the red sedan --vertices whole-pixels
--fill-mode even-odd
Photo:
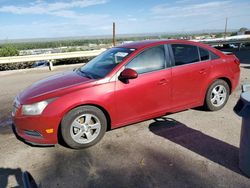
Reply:
[[[199,61],[197,46],[186,44],[172,44],[175,66],[185,65]]]

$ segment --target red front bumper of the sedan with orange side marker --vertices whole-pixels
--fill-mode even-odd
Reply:
[[[12,110],[13,132],[17,139],[32,145],[55,145],[58,143],[58,127],[61,118],[57,113],[23,115],[18,96]],[[53,111],[54,112],[54,111]]]

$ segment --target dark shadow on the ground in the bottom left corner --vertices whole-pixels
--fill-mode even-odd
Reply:
[[[23,187],[22,170],[20,168],[0,168],[0,187],[5,188],[8,186],[9,176],[16,178],[17,186],[15,187]]]

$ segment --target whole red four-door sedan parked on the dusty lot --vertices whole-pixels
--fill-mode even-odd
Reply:
[[[205,106],[224,107],[239,60],[182,40],[124,44],[85,66],[34,83],[15,98],[14,131],[32,144],[96,144],[109,129]]]

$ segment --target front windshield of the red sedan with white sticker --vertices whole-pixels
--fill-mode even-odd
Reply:
[[[111,48],[78,69],[90,78],[103,78],[121,63],[135,49]]]

